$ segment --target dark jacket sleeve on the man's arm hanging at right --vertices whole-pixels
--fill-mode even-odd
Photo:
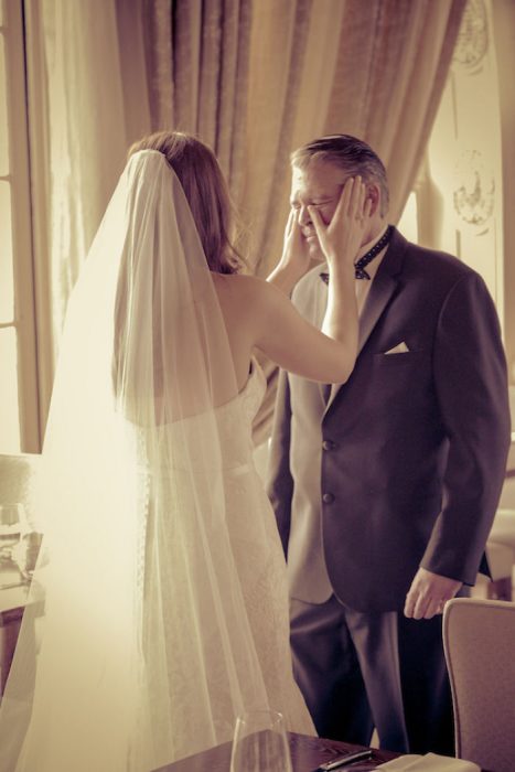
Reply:
[[[501,495],[511,430],[498,319],[474,272],[454,285],[442,305],[433,376],[449,453],[442,510],[421,566],[473,585]]]

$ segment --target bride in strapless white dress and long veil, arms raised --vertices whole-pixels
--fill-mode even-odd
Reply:
[[[366,208],[358,179],[330,224],[310,207],[331,274],[320,332],[288,299],[309,264],[298,213],[269,281],[244,276],[211,150],[180,132],[131,149],[68,304],[2,772],[148,772],[229,740],[248,709],[314,733],[253,463],[266,388],[253,352],[346,380]]]

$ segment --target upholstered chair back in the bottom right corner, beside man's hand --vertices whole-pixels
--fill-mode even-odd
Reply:
[[[457,757],[515,769],[515,603],[454,598],[443,612]]]

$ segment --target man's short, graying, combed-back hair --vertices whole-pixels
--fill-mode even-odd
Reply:
[[[364,182],[375,182],[380,189],[380,214],[388,212],[389,193],[383,161],[363,140],[351,135],[329,135],[313,139],[290,156],[292,167],[305,169],[312,161],[326,161],[341,167],[350,176],[361,174]]]

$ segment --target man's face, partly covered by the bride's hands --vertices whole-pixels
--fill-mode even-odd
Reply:
[[[315,206],[322,221],[329,225],[347,178],[345,170],[326,161],[314,161],[305,169],[293,167],[290,205],[297,213],[313,258],[321,259],[323,256],[308,206]]]

